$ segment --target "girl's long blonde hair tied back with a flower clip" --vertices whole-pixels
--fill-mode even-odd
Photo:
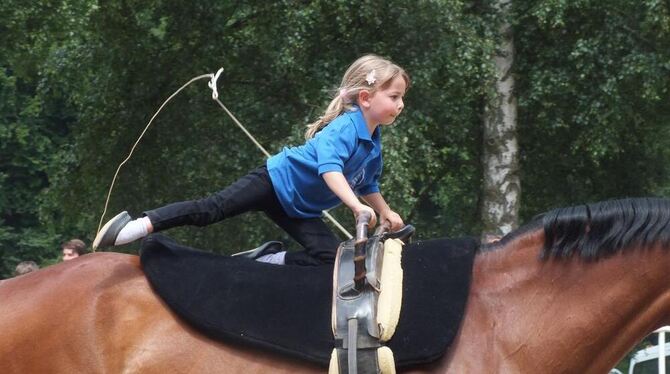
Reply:
[[[305,139],[313,138],[342,112],[351,110],[361,90],[368,90],[370,94],[374,94],[378,89],[387,88],[391,81],[399,76],[405,80],[409,88],[410,79],[405,70],[383,57],[369,54],[354,61],[344,73],[342,83],[335,91],[335,96],[328,104],[326,112],[315,122],[307,125]],[[369,78],[374,78],[374,82],[369,83]]]

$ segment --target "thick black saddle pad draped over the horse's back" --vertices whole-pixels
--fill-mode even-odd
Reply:
[[[477,242],[436,239],[405,246],[403,300],[387,343],[397,367],[440,358],[458,332]],[[156,234],[141,263],[165,303],[202,333],[324,366],[334,347],[333,266],[281,266],[188,248]]]

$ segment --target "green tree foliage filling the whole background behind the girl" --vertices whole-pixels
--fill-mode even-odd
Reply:
[[[513,4],[523,215],[667,193],[667,4]],[[221,100],[272,153],[303,141],[344,70],[369,52],[412,77],[403,116],[384,131],[386,199],[422,238],[478,232],[498,25],[488,2],[5,1],[0,10],[0,277],[19,260],[55,261],[71,237],[91,242],[117,165],[191,78],[224,67]],[[263,162],[198,81],[121,169],[105,218],[215,192]],[[352,227],[346,209],[332,213]],[[170,235],[218,252],[288,240],[262,214]]]

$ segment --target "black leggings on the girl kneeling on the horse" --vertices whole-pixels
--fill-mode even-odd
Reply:
[[[289,217],[272,187],[266,166],[252,170],[225,189],[199,200],[182,201],[144,212],[154,232],[175,226],[206,226],[248,211],[263,211],[305,249],[287,252],[286,264],[332,264],[340,240],[321,218]]]

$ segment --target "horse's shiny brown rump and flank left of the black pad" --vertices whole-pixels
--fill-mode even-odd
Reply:
[[[315,369],[199,335],[155,296],[137,256],[89,254],[8,279],[0,301],[5,373]]]

